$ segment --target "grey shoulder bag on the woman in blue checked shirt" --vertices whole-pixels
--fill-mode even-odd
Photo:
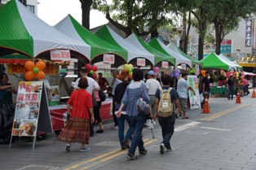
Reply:
[[[143,115],[150,115],[151,114],[151,107],[150,105],[145,102],[143,100],[144,98],[144,94],[143,94],[143,88],[142,88],[142,85],[140,85],[140,94],[139,94],[141,97],[138,98],[137,102],[136,102],[136,107],[139,111],[140,114],[143,114]]]

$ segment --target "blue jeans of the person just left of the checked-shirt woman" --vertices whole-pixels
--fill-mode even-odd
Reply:
[[[126,137],[124,137],[124,131],[125,131],[125,121],[129,124],[129,129],[126,132]],[[121,114],[120,117],[117,118],[118,123],[118,137],[121,147],[125,146],[123,140],[126,139],[128,141],[130,139],[131,133],[134,131],[134,127],[130,124],[130,118],[127,115]]]

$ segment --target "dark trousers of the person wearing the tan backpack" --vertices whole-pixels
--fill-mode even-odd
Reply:
[[[170,137],[174,134],[174,114],[169,117],[158,117],[158,122],[161,125],[161,135],[163,137],[161,143],[163,143],[167,149],[170,149]]]

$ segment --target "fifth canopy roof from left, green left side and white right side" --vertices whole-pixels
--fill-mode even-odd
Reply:
[[[185,58],[182,54],[175,53],[173,50],[170,50],[163,42],[158,40],[157,38],[153,38],[148,42],[149,46],[161,51],[164,54],[168,54],[175,58],[175,67],[181,63],[186,63],[190,68],[192,67],[192,61],[190,59]]]

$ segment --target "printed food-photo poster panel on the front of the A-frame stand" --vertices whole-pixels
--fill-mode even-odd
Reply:
[[[12,136],[36,136],[42,88],[42,81],[20,81]]]

